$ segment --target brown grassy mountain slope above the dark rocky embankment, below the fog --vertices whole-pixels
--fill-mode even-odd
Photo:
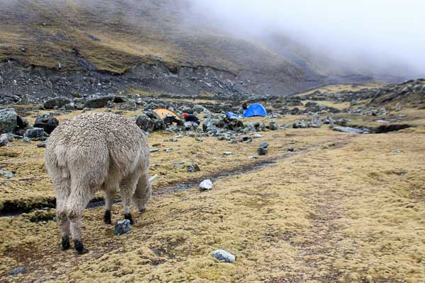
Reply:
[[[274,94],[332,80],[294,54],[297,48],[279,52],[188,21],[188,5],[171,0],[3,0],[0,62],[113,74],[158,62],[174,73],[181,67],[211,67],[263,84],[266,93]],[[370,78],[356,78],[364,79]]]

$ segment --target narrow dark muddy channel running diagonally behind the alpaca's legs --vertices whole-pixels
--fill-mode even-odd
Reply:
[[[244,173],[258,171],[261,168],[273,166],[274,164],[278,163],[279,161],[282,161],[285,158],[290,158],[292,156],[304,154],[310,149],[323,146],[324,144],[331,143],[331,147],[338,148],[339,146],[344,146],[344,144],[347,144],[350,139],[353,139],[353,137],[356,137],[356,136],[343,137],[341,139],[337,139],[336,141],[334,139],[331,139],[328,141],[324,141],[322,144],[311,144],[309,146],[305,146],[300,149],[291,149],[285,154],[278,154],[277,156],[272,156],[266,159],[261,159],[259,161],[254,161],[254,163],[246,164],[244,166],[239,166],[237,168],[232,168],[230,170],[212,173],[210,175],[205,175],[202,178],[189,179],[182,183],[171,184],[160,190],[156,190],[152,192],[152,195],[166,195],[173,192],[179,192],[182,190],[189,190],[192,187],[197,187],[198,184],[205,179],[211,179],[213,181],[222,180],[224,178],[230,178],[234,175],[240,175]],[[119,204],[119,203],[121,203],[121,200],[119,198],[114,200],[114,204]],[[103,200],[103,197],[96,197],[93,200],[91,200],[91,202],[89,202],[86,208],[94,209],[96,207],[102,207],[103,205],[105,205],[105,200]],[[50,200],[50,202],[34,203],[32,207],[29,207],[26,209],[23,209],[21,207],[16,207],[13,204],[6,203],[4,204],[4,208],[0,211],[0,217],[20,216],[21,214],[24,214],[24,213],[37,211],[37,210],[49,210],[55,207],[56,207],[55,198]],[[53,219],[50,219],[50,220],[53,220]]]

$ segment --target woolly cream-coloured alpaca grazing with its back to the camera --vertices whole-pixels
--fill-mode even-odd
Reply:
[[[152,195],[148,178],[149,147],[145,133],[130,120],[110,113],[82,114],[63,122],[47,140],[45,161],[56,191],[62,249],[84,254],[81,240],[84,208],[98,190],[105,195],[104,221],[120,187],[125,219],[133,224],[131,201],[144,212]]]

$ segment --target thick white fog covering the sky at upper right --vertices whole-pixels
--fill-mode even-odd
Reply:
[[[291,38],[333,64],[425,74],[423,0],[190,0],[197,21],[235,37]],[[323,59],[323,58],[322,58]]]

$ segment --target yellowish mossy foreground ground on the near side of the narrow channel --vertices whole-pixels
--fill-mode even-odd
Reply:
[[[211,192],[157,195],[125,236],[102,224],[103,209],[87,209],[87,255],[60,251],[53,221],[0,219],[1,275],[6,282],[424,282],[423,136],[279,134],[310,146],[216,180]],[[237,261],[215,262],[216,248]],[[16,265],[28,273],[6,277]]]

